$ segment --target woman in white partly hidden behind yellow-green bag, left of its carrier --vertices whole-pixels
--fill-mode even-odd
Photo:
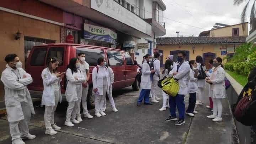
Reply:
[[[176,72],[177,70],[177,65],[174,61],[167,59],[165,61],[165,69],[163,71],[163,76],[162,78],[166,77],[172,77],[173,73]],[[162,90],[162,97],[163,97],[163,105],[162,108],[159,109],[159,111],[165,111],[166,107],[169,107],[169,96]],[[168,100],[168,101],[167,101]]]

